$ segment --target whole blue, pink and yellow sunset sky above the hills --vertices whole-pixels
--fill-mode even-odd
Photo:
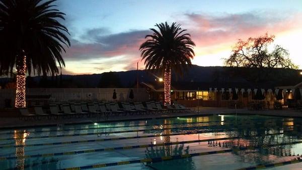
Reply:
[[[196,43],[192,63],[222,66],[236,41],[274,34],[302,68],[302,1],[62,0],[71,47],[64,74],[143,69],[139,45],[156,23],[177,22]]]

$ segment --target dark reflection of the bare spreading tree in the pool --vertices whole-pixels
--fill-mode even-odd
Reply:
[[[284,119],[283,121],[288,121]],[[278,126],[281,125],[281,126]],[[255,146],[261,147],[256,150],[245,150],[234,152],[234,154],[241,157],[243,162],[249,163],[271,163],[274,159],[282,157],[287,157],[285,160],[289,160],[288,156],[295,156],[297,153],[292,151],[292,145],[281,145],[266,147],[267,145],[276,145],[283,143],[290,143],[294,141],[301,140],[301,131],[295,131],[294,122],[282,122],[282,121],[264,121],[262,128],[248,129],[238,128],[236,131],[226,131],[227,136],[236,137],[240,136],[239,139],[229,140],[232,143],[233,147],[246,147],[246,146]],[[282,133],[280,135],[269,135],[268,133]],[[256,137],[255,137],[256,136]],[[301,154],[301,153],[300,153]]]

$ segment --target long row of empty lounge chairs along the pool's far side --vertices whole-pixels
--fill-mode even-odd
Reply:
[[[83,118],[83,117],[97,117],[108,119],[108,117],[118,116],[132,116],[132,115],[150,115],[150,114],[163,114],[173,112],[186,112],[190,108],[186,108],[180,104],[167,104],[163,108],[160,102],[82,102],[82,103],[52,103],[48,107],[36,105],[33,111],[28,108],[20,109],[22,117],[20,119],[58,119],[63,118]]]

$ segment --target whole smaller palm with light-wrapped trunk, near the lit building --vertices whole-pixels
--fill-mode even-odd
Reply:
[[[171,70],[183,75],[187,66],[191,65],[195,43],[191,40],[190,34],[184,33],[180,24],[168,23],[156,24],[159,31],[151,28],[152,35],[140,45],[142,60],[146,70],[160,70],[164,73],[165,103],[171,103]]]

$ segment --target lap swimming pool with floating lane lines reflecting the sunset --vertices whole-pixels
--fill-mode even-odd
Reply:
[[[0,169],[298,169],[301,124],[215,115],[6,129]]]

